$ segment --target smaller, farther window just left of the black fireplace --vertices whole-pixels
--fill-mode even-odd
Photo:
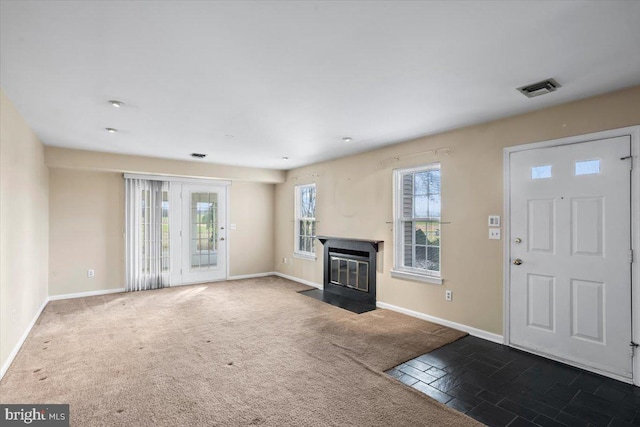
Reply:
[[[316,256],[316,185],[296,185],[295,249],[297,255]]]

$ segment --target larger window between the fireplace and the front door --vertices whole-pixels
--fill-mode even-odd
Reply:
[[[394,277],[441,284],[440,163],[394,171]]]

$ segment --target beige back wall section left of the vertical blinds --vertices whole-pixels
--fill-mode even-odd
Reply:
[[[49,295],[124,288],[122,174],[52,168],[49,182]]]

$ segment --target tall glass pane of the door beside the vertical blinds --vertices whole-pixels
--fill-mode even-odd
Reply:
[[[191,193],[191,268],[218,265],[218,193]]]

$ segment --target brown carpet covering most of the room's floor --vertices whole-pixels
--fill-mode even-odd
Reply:
[[[50,302],[2,403],[74,426],[480,425],[382,373],[462,332],[356,315],[278,277]]]

